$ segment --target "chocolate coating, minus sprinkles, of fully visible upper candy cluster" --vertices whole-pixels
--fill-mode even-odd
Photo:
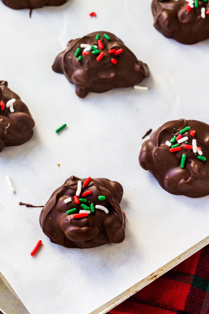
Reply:
[[[101,49],[96,40],[97,34],[102,41]],[[103,34],[107,34],[111,39],[107,40]],[[99,53],[93,54],[92,49],[87,56],[82,55],[85,48],[81,48],[81,44],[96,45],[99,53],[104,52],[104,56],[97,61]],[[81,61],[74,56],[77,48],[81,48]],[[108,52],[111,49],[123,49],[123,52],[114,55]],[[115,59],[117,64],[113,64],[111,59]],[[89,92],[103,93],[117,87],[134,86],[149,76],[148,66],[138,61],[123,41],[105,31],[70,40],[65,51],[56,57],[52,69],[57,73],[65,74],[68,81],[75,84],[76,95],[81,98],[86,97]]]

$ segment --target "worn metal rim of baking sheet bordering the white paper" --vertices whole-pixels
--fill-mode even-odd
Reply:
[[[139,281],[137,284],[134,284],[132,287],[100,306],[96,310],[92,311],[89,314],[105,314],[110,311],[112,308],[128,299],[131,295],[138,292],[146,285],[153,282],[155,279],[162,276],[164,273],[168,272],[170,269],[175,267],[176,265],[183,262],[186,258],[190,257],[201,248],[209,244],[209,236],[207,236],[202,241],[198,242],[196,245],[192,246],[190,249],[186,250],[184,253],[175,257],[172,261],[165,264],[161,268],[157,269],[154,273],[151,273],[146,278]],[[8,281],[4,278],[2,273],[0,273],[0,310],[3,314],[10,314],[15,312],[16,314],[29,314],[29,311],[25,308],[24,304],[18,298]]]

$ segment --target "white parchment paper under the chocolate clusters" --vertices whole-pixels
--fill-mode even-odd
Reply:
[[[163,37],[152,26],[150,4],[69,0],[34,10],[30,19],[29,10],[0,3],[1,79],[36,123],[28,143],[0,154],[0,270],[31,314],[94,311],[208,236],[209,197],[171,195],[138,164],[150,127],[178,118],[209,123],[209,41],[185,46]],[[148,91],[115,89],[79,99],[74,85],[51,70],[68,40],[97,30],[115,33],[149,65],[151,76],[140,84]],[[63,123],[67,128],[56,134]],[[71,175],[123,185],[121,244],[60,247],[43,234],[40,209],[18,205],[44,205]],[[31,257],[38,240],[43,245]]]

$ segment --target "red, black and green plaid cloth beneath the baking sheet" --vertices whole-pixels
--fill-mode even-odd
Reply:
[[[209,314],[209,245],[108,313]]]

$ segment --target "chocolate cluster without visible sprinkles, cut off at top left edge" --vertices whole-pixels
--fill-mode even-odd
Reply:
[[[45,5],[59,6],[67,0],[2,0],[2,2],[12,9],[35,9]]]

